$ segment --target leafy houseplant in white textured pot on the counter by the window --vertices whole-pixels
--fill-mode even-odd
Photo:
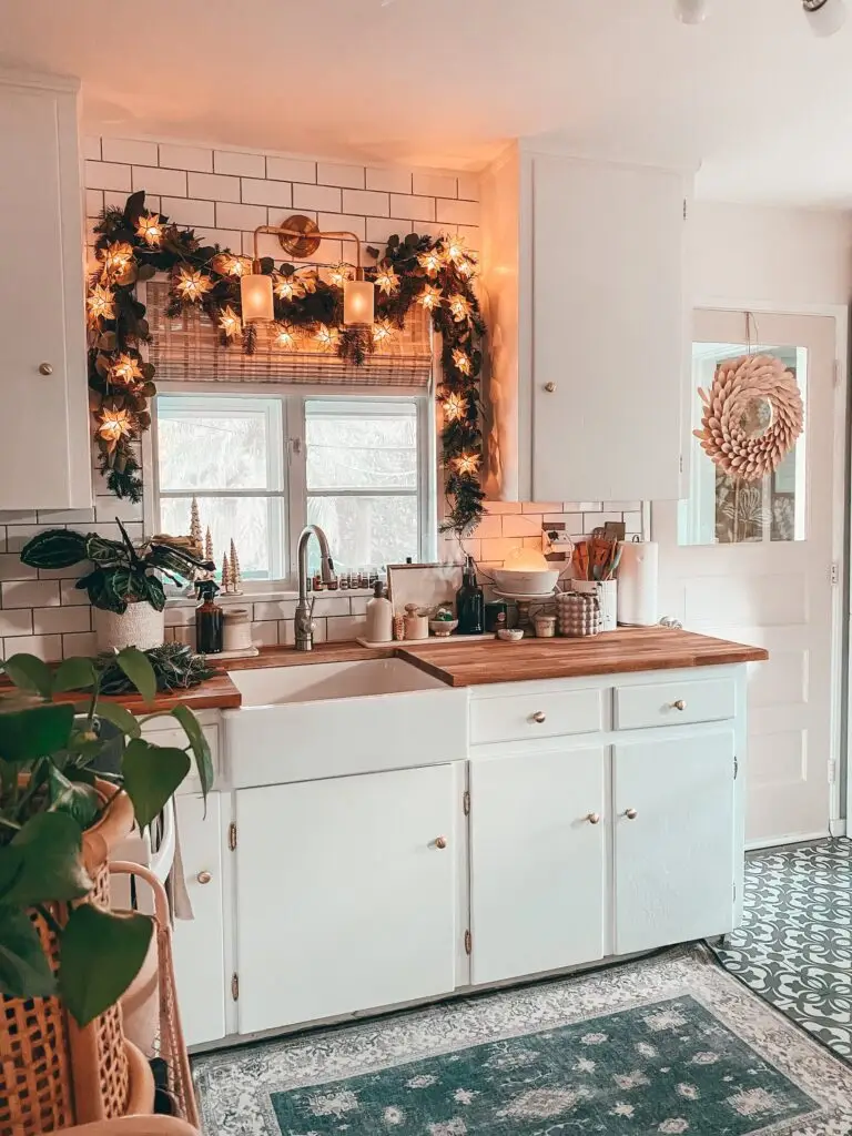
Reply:
[[[116,518],[117,519],[117,518]],[[20,559],[31,568],[70,568],[89,562],[91,570],[77,580],[94,608],[100,651],[159,646],[165,638],[166,593],[160,576],[175,584],[192,579],[198,569],[212,571],[201,549],[189,536],[152,536],[135,548],[120,520],[120,541],[97,533],[84,536],[67,528],[51,528],[28,541]]]

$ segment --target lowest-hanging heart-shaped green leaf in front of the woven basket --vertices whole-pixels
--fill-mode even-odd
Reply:
[[[59,949],[59,993],[86,1026],[124,994],[145,961],[153,934],[148,916],[75,908]]]

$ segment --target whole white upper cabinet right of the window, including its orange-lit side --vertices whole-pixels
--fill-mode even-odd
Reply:
[[[686,185],[524,142],[485,173],[490,496],[680,496]]]

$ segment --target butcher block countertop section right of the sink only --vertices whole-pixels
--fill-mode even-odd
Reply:
[[[448,686],[720,667],[769,658],[762,648],[667,627],[621,628],[590,638],[526,638],[520,643],[496,640],[424,644],[408,650],[401,646],[398,655]]]

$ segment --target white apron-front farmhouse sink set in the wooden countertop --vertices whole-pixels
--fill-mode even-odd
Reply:
[[[223,713],[234,788],[458,761],[467,691],[401,659],[234,670]]]

